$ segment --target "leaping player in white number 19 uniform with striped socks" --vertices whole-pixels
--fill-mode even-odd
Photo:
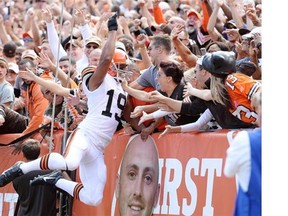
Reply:
[[[108,43],[103,47],[97,68],[89,66],[82,71],[88,113],[70,135],[64,156],[52,152],[28,163],[16,163],[2,173],[0,186],[5,186],[17,176],[32,170],[55,170],[50,175],[35,178],[31,185],[55,185],[87,205],[97,206],[101,203],[107,178],[103,153],[112,139],[126,103],[121,84],[107,74],[114,55],[117,28],[116,15],[113,15],[108,20]],[[31,71],[22,73],[21,76],[64,97],[75,93],[75,90],[43,80]],[[72,171],[77,168],[81,183],[61,176],[61,170]]]

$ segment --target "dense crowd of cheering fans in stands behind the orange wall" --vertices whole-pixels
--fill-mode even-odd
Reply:
[[[24,135],[51,120],[55,129],[64,129],[67,124],[68,131],[72,131],[85,118],[87,99],[82,91],[81,73],[88,66],[97,67],[101,48],[107,42],[106,23],[111,13],[117,14],[119,28],[109,74],[125,77],[122,85],[129,94],[118,130],[141,133],[145,139],[153,132],[163,131],[165,125],[196,122],[207,107],[211,119],[197,129],[255,127],[257,113],[251,121],[236,113],[240,112],[237,111],[239,95],[249,102],[252,92],[239,90],[236,96],[229,95],[229,91],[226,95],[217,93],[215,83],[219,79],[213,78],[213,73],[203,68],[200,60],[206,53],[233,52],[235,63],[229,74],[244,74],[244,78],[237,79],[249,77],[249,82],[257,83],[257,89],[261,87],[259,0],[71,0],[64,3],[17,0],[1,4],[2,134]],[[21,78],[19,71],[27,70],[78,91],[73,98],[56,96],[54,99],[49,90]],[[220,83],[227,87],[225,80],[228,79],[224,77]],[[245,86],[243,82],[242,88]],[[155,96],[155,91],[161,96]],[[222,95],[217,100],[219,93]],[[190,108],[173,110],[168,108],[169,102],[163,108],[162,96],[181,101],[183,107]],[[219,122],[223,115],[217,115],[226,109],[240,121]],[[16,121],[21,124],[11,124]],[[251,124],[247,126],[243,122]]]

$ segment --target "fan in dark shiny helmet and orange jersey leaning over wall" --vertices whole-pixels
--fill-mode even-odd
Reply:
[[[256,66],[250,62],[247,63],[249,67],[237,68],[235,53],[229,51],[207,53],[199,60],[202,67],[212,75],[211,90],[191,88],[189,93],[222,104],[242,122],[255,125],[258,115],[251,106],[251,98],[261,88],[261,83],[245,73],[254,72]]]

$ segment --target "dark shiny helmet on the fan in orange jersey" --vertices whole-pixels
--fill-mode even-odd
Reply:
[[[232,51],[206,53],[202,60],[203,68],[215,77],[226,77],[235,71],[236,56]]]

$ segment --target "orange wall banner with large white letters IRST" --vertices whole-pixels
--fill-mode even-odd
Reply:
[[[234,178],[223,174],[226,150],[231,131],[172,133],[158,139],[152,135],[159,152],[160,195],[153,215],[209,215],[233,214],[236,184]],[[115,195],[119,165],[130,136],[121,132],[113,136],[104,156],[107,182],[102,203],[97,207],[73,200],[72,215],[120,215]],[[1,140],[1,136],[0,136]],[[2,138],[3,140],[3,138]],[[61,142],[58,138],[57,142]],[[60,143],[55,151],[60,151]],[[11,155],[13,148],[1,147],[0,172],[22,160]],[[41,154],[49,152],[43,144]],[[79,181],[78,170],[76,180]],[[97,182],[95,182],[97,184]],[[12,184],[0,188],[0,215],[13,215],[17,194]],[[2,214],[1,214],[2,213]]]

